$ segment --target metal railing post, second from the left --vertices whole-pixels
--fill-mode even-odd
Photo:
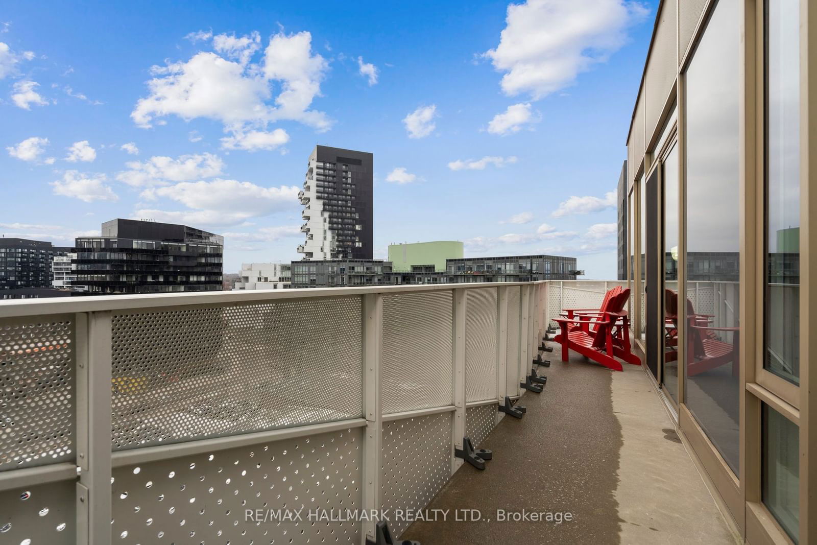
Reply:
[[[363,449],[363,508],[379,510],[381,506],[380,477],[382,475],[382,376],[383,354],[383,295],[366,293],[363,296],[363,411],[366,418]],[[375,538],[377,520],[361,521],[360,543]]]

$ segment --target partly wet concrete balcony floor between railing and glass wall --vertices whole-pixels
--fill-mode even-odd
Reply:
[[[610,371],[559,348],[540,368],[525,418],[505,417],[483,444],[484,471],[463,466],[427,509],[479,509],[480,522],[423,520],[402,539],[437,543],[740,543],[676,435],[644,371]],[[498,522],[496,511],[560,511],[573,520]]]

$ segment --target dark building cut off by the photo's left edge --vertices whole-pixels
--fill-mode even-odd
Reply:
[[[42,240],[0,239],[0,289],[51,288],[51,261],[69,251]]]

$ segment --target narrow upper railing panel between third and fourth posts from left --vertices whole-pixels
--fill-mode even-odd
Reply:
[[[466,401],[497,396],[497,288],[467,291],[465,339]]]

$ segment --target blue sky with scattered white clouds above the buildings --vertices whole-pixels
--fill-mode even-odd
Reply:
[[[0,233],[150,217],[225,235],[225,272],[298,259],[324,144],[374,154],[375,257],[458,239],[613,279],[654,3],[7,3]]]

